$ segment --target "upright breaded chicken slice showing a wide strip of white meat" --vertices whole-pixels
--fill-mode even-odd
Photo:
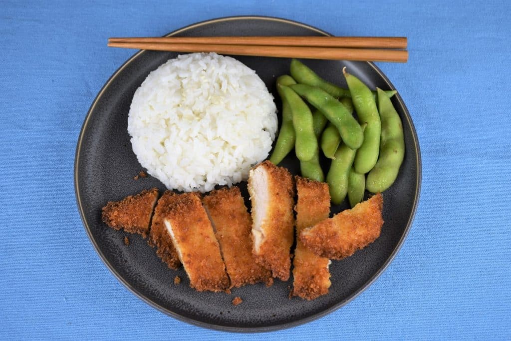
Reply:
[[[252,253],[273,277],[287,281],[293,244],[293,177],[285,168],[265,161],[250,170],[248,192],[252,201]]]

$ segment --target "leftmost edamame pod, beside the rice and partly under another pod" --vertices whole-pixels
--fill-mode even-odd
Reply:
[[[291,76],[283,75],[277,78],[277,92],[282,99],[282,125],[278,131],[278,138],[275,148],[270,156],[270,161],[274,165],[278,165],[286,157],[287,154],[294,148],[296,135],[293,128],[293,116],[291,115],[291,108],[289,103],[282,96],[282,90],[278,85],[291,85],[296,84]]]

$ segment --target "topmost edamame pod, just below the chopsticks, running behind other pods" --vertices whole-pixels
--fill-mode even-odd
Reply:
[[[332,84],[321,77],[319,77],[314,71],[312,71],[307,65],[299,61],[298,59],[291,60],[290,66],[291,76],[301,84],[307,84],[311,86],[319,87],[320,89],[325,90],[327,93],[332,95],[333,97],[351,97],[351,93],[349,89],[342,88],[335,84]],[[376,91],[373,91],[373,94],[376,99]],[[392,97],[396,94],[396,90],[389,90],[387,92],[388,97]]]

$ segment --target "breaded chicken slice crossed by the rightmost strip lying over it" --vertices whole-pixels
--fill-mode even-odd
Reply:
[[[295,176],[296,235],[330,215],[330,193],[326,183]],[[293,258],[292,294],[306,300],[314,300],[328,293],[331,285],[330,260],[315,255],[297,239]]]

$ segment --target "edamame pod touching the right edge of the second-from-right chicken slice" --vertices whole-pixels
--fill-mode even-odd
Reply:
[[[344,143],[335,152],[335,159],[332,160],[332,165],[327,174],[330,197],[335,204],[341,203],[346,197],[348,177],[354,160],[355,150]]]

